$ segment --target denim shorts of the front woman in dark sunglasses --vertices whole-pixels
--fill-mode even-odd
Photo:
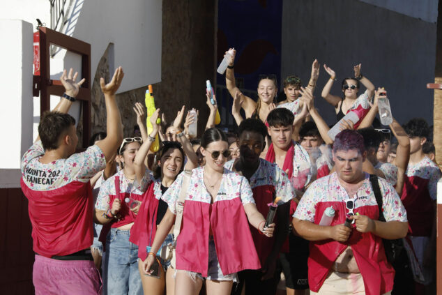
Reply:
[[[183,272],[182,270],[176,270],[177,272]],[[218,256],[216,255],[215,249],[215,241],[211,237],[208,239],[208,269],[207,269],[207,277],[204,278],[201,273],[195,273],[193,271],[185,271],[190,278],[194,281],[196,278],[200,278],[201,280],[233,280],[234,282],[238,282],[238,275],[236,273],[230,273],[228,275],[222,274],[220,262],[218,261]]]

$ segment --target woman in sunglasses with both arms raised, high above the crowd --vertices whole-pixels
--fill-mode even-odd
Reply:
[[[369,100],[371,100],[374,93],[374,85],[370,82],[367,77],[360,73],[360,63],[353,67],[354,77],[348,77],[342,80],[341,89],[344,98],[340,96],[334,96],[330,94],[330,90],[333,86],[333,82],[336,80],[335,71],[323,65],[324,69],[330,75],[330,79],[327,81],[326,85],[322,89],[321,96],[335,107],[336,121],[340,121],[349,111],[356,112],[359,117],[359,121],[353,126],[354,129],[358,128],[360,121],[369,111],[370,105]],[[366,90],[363,94],[358,96],[358,91],[360,89],[360,84],[362,83]]]

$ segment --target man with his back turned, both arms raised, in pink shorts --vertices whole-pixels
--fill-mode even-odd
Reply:
[[[107,137],[82,153],[75,119],[67,114],[84,79],[72,68],[61,75],[63,98],[40,120],[38,137],[22,158],[22,190],[32,224],[33,285],[36,294],[98,294],[100,278],[93,264],[93,198],[89,180],[105,168],[123,138],[115,93],[123,79],[117,68],[105,94]]]

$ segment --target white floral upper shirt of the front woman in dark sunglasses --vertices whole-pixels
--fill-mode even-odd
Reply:
[[[176,177],[172,186],[162,195],[161,199],[167,203],[169,210],[176,214],[176,202],[183,185],[184,171]],[[239,197],[243,205],[254,204],[252,189],[247,179],[236,172],[224,169],[220,183],[220,189],[213,202],[231,200]],[[204,184],[204,167],[198,167],[192,170],[185,200],[212,203],[212,197]]]

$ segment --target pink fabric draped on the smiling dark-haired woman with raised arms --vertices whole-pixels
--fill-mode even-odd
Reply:
[[[155,182],[152,181],[143,195],[142,205],[138,211],[137,219],[130,229],[129,241],[138,245],[139,259],[146,259],[147,246],[151,246],[155,233],[157,232],[157,213],[159,200],[155,198],[153,188]]]

